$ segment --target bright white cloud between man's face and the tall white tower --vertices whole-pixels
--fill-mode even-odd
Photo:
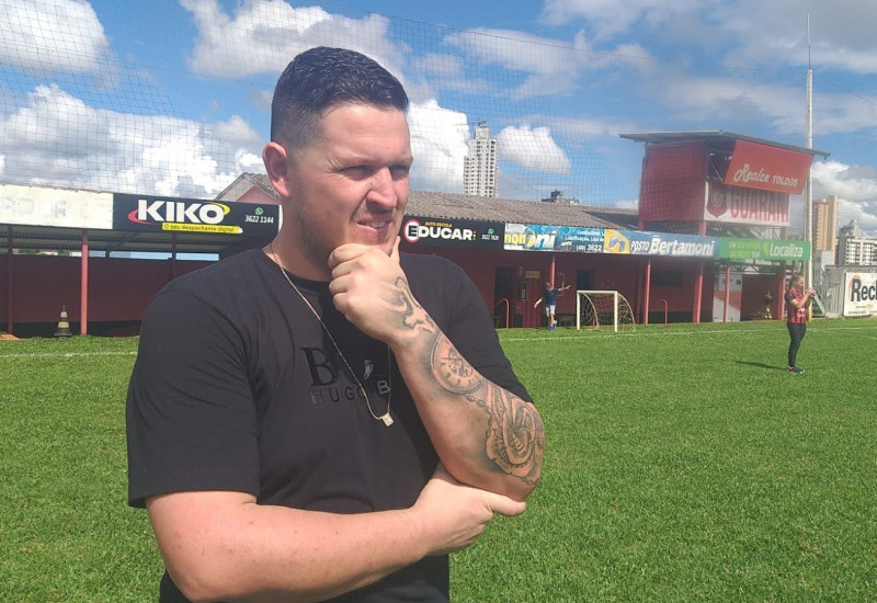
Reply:
[[[464,113],[435,100],[411,103],[408,111],[414,166],[411,185],[423,191],[463,192],[463,158],[469,126]]]

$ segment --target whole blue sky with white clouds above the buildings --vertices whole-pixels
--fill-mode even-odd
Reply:
[[[634,207],[642,148],[620,133],[804,146],[808,13],[813,146],[831,153],[813,196],[877,236],[872,0],[0,0],[0,181],[212,196],[261,170],[274,81],[323,44],[405,82],[413,186],[459,192],[485,121],[502,196]]]

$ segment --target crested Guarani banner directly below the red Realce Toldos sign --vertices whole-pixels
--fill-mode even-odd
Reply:
[[[788,194],[707,184],[704,220],[759,226],[788,226]]]

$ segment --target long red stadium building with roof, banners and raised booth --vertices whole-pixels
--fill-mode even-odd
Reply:
[[[411,191],[402,250],[458,263],[497,327],[542,325],[547,281],[618,291],[637,322],[741,320],[764,310],[765,291],[781,318],[785,274],[809,258],[783,242],[790,195],[825,153],[722,132],[623,136],[645,144],[638,211]],[[77,332],[136,333],[152,295],[206,263],[180,254],[264,244],[281,219],[264,174],[215,200],[0,185],[0,330],[52,334],[64,306]],[[561,325],[574,311],[574,294],[558,299]]]

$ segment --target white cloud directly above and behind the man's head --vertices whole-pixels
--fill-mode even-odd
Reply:
[[[198,31],[189,65],[200,75],[238,78],[280,73],[299,53],[314,46],[361,52],[399,77],[401,55],[387,41],[389,21],[361,20],[319,7],[294,8],[284,0],[240,2],[232,15],[217,0],[180,0]]]

